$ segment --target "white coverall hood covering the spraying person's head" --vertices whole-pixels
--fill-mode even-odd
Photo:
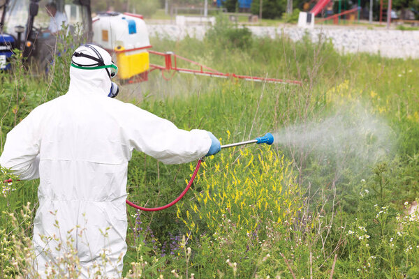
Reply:
[[[103,48],[96,45],[90,45],[94,47],[103,58],[105,65],[112,63],[112,57],[108,52],[103,50]],[[75,52],[84,53],[90,56],[98,57],[98,55],[91,50],[91,48],[86,45],[78,47]],[[86,57],[72,57],[72,61],[83,64],[90,65],[95,63],[95,61],[86,58]],[[110,90],[110,78],[106,69],[98,70],[84,70],[79,68],[70,67],[70,86],[68,88],[68,93],[83,93],[83,94],[99,94],[102,96],[108,96]]]

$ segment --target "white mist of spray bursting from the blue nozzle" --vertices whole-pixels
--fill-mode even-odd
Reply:
[[[297,165],[310,158],[336,176],[346,171],[363,176],[391,156],[396,142],[395,131],[371,111],[357,103],[339,105],[334,114],[275,131],[275,145],[287,150]]]

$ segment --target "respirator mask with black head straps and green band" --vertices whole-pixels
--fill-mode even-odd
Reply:
[[[92,64],[80,64],[73,61],[73,56],[71,56],[71,66],[74,68],[82,69],[82,70],[98,70],[98,69],[105,69],[106,73],[108,74],[108,77],[112,79],[115,77],[118,73],[118,67],[115,65],[115,63],[112,62],[110,65],[105,65],[105,61],[103,60],[103,57],[101,54],[91,45],[83,45],[84,47],[88,47],[89,49],[93,50],[94,53],[97,55],[97,57],[91,56],[89,54],[84,54],[82,52],[74,52],[73,56],[75,57],[86,57],[88,59],[91,59],[93,61],[96,61],[96,63]],[[108,97],[115,98],[119,93],[118,85],[115,82],[111,82],[110,84],[110,91],[108,93]]]

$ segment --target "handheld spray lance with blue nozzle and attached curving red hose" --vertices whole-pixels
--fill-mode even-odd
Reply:
[[[274,143],[274,136],[271,133],[266,133],[263,137],[256,137],[256,139],[254,139],[254,140],[248,140],[246,142],[236,142],[236,143],[233,143],[233,144],[221,145],[221,149],[226,149],[226,148],[230,148],[230,147],[234,147],[234,146],[240,146],[240,145],[246,145],[246,144],[268,144],[268,145],[271,145],[273,143]],[[182,199],[182,197],[184,197],[186,192],[188,192],[189,188],[191,188],[193,180],[195,179],[196,174],[198,174],[198,170],[200,168],[200,165],[201,165],[202,161],[203,161],[203,158],[200,158],[198,160],[198,163],[196,164],[196,167],[195,167],[195,171],[193,171],[191,179],[189,180],[188,185],[186,186],[185,190],[173,202],[170,202],[170,204],[166,204],[165,206],[160,206],[160,207],[148,208],[148,207],[138,206],[138,205],[134,204],[133,202],[128,201],[128,199],[126,199],[126,204],[132,206],[135,209],[140,209],[142,211],[161,211],[163,209],[169,208],[172,205],[175,205],[177,202],[179,202],[180,199]]]

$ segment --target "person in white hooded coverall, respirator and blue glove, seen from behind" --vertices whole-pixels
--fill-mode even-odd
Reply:
[[[121,277],[133,149],[166,164],[220,151],[210,132],[180,130],[135,105],[108,98],[117,94],[110,80],[116,73],[108,52],[95,45],[78,47],[66,95],[36,107],[7,135],[0,165],[20,179],[40,178],[33,242],[41,278],[68,252],[67,239],[78,251],[80,278],[97,278],[98,266],[100,278]],[[108,264],[101,259],[104,249]]]

